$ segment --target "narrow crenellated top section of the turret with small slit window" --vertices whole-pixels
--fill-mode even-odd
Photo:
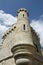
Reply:
[[[18,20],[20,19],[28,19],[29,13],[27,9],[21,8],[18,10]]]

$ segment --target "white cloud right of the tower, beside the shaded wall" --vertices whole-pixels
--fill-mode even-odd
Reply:
[[[40,43],[41,46],[43,46],[43,15],[40,16],[39,20],[35,20],[33,19],[31,22],[31,26],[33,27],[33,29],[37,32],[37,34],[40,37]]]

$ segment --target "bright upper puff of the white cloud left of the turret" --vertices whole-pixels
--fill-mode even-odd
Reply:
[[[12,25],[13,23],[15,23],[17,18],[12,16],[11,14],[5,13],[3,10],[0,10],[0,20],[3,21],[4,25]]]

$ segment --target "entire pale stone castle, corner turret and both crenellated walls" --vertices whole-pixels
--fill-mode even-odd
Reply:
[[[19,9],[17,23],[5,32],[2,43],[0,64],[43,65],[40,39],[30,26],[25,8]]]

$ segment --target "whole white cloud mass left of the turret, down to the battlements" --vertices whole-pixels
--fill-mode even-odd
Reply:
[[[8,26],[16,23],[17,18],[11,14],[5,13],[3,10],[0,10],[0,41],[3,36],[3,33],[8,29]]]

